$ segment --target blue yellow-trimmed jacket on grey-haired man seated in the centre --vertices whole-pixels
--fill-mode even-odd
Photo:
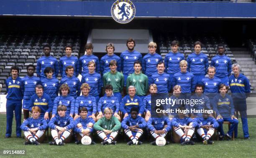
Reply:
[[[133,99],[128,95],[123,97],[122,102],[120,104],[120,111],[125,114],[130,114],[132,107],[138,107],[139,108],[139,114],[143,114],[144,112],[144,105],[140,97],[135,95]]]

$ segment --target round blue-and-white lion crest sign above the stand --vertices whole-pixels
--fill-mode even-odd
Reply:
[[[111,7],[111,15],[118,23],[129,23],[135,13],[135,6],[130,0],[117,0]]]

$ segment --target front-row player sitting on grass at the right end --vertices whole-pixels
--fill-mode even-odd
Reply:
[[[204,108],[204,110],[210,110]],[[210,116],[207,112],[202,114],[202,117],[196,118],[198,126],[197,133],[202,137],[203,144],[213,144],[213,141],[210,140],[214,134],[214,129],[219,127],[217,120]]]

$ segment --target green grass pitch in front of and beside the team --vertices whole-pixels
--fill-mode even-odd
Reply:
[[[64,146],[48,145],[47,142],[35,145],[24,145],[23,138],[15,137],[15,122],[13,122],[12,138],[4,138],[6,128],[6,115],[0,114],[0,158],[20,157],[20,155],[3,155],[3,150],[26,150],[24,157],[233,157],[244,158],[256,157],[256,118],[248,118],[249,133],[251,140],[243,140],[242,123],[239,120],[238,138],[235,141],[217,141],[213,145],[182,146],[170,143],[163,147],[150,145],[144,141],[142,145],[128,146],[126,142],[118,141],[117,145],[103,146],[97,142],[96,145],[76,145],[69,143]],[[225,125],[227,126],[227,125]],[[226,130],[225,130],[226,131]],[[23,157],[23,156],[22,156]]]

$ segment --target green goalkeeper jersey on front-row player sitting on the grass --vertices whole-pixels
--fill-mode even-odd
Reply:
[[[110,120],[106,119],[106,117],[102,117],[93,125],[93,128],[95,130],[100,130],[100,131],[111,130],[112,132],[115,132],[120,130],[121,123],[115,116],[112,116]]]

